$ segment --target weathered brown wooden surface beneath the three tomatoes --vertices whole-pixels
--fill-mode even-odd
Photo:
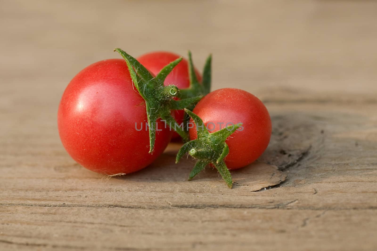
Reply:
[[[0,6],[0,250],[377,249],[377,3]],[[113,47],[191,49],[199,68],[212,52],[214,89],[264,100],[271,143],[234,189],[211,169],[186,181],[177,145],[110,179],[68,156],[60,96]]]

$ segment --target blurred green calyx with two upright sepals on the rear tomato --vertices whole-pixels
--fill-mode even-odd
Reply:
[[[205,96],[210,93],[211,89],[211,61],[212,55],[209,55],[207,60],[205,61],[204,69],[203,69],[203,79],[200,83],[198,78],[196,78],[194,65],[192,62],[192,55],[189,51],[189,78],[190,78],[190,87],[187,89],[182,89],[181,93],[179,94],[179,98],[185,99],[189,97],[195,96]]]

